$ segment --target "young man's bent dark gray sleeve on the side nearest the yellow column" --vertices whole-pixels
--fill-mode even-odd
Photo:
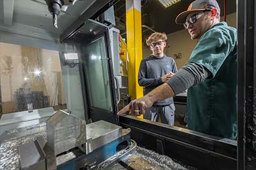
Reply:
[[[138,74],[138,83],[142,87],[156,86],[163,84],[160,78],[147,78],[147,64],[144,60],[141,60],[140,70]]]

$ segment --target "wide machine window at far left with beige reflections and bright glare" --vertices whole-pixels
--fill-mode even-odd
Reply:
[[[0,43],[0,116],[53,106],[66,108],[59,53]]]

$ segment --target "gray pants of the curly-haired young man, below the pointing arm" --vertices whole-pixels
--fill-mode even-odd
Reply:
[[[174,111],[174,104],[168,106],[151,106],[146,109],[143,118],[158,122],[160,116],[163,124],[174,125]]]

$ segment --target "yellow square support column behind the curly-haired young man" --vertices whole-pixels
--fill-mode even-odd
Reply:
[[[128,90],[133,100],[143,96],[143,87],[138,84],[138,72],[142,59],[140,0],[126,0],[126,32],[129,57]]]

